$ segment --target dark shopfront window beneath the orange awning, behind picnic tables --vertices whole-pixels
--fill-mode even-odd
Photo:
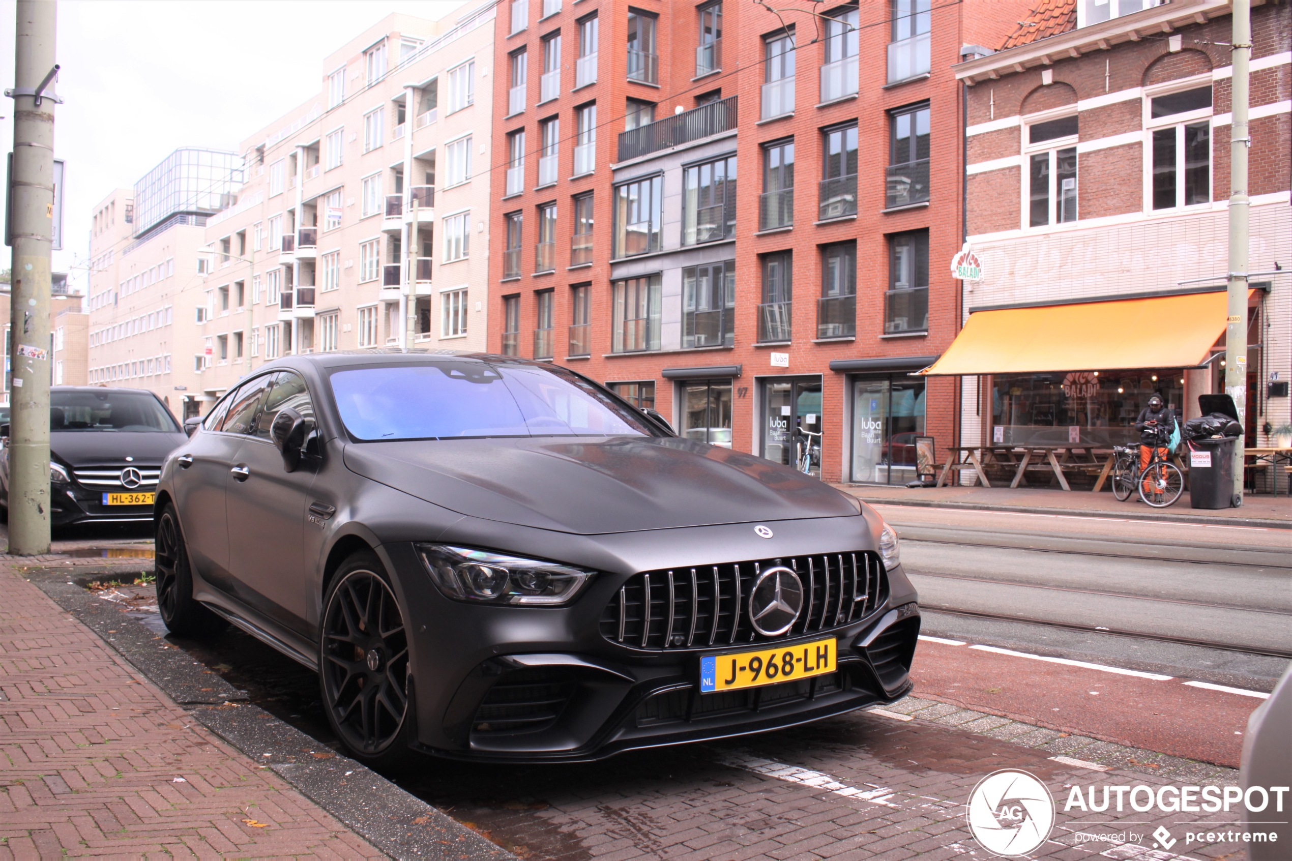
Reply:
[[[1185,374],[1158,370],[1072,370],[992,377],[992,443],[1013,445],[1128,445],[1149,398],[1181,414]]]

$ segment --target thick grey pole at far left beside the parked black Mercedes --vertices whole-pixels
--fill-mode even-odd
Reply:
[[[14,28],[9,552],[49,552],[49,252],[54,234],[54,0],[18,0]]]

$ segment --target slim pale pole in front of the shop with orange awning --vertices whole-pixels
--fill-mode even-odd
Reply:
[[[1225,392],[1238,408],[1243,432],[1234,444],[1234,507],[1243,505],[1243,443],[1247,432],[1247,244],[1251,200],[1247,196],[1248,75],[1252,61],[1252,3],[1234,0],[1234,83],[1229,160],[1229,320],[1225,329]]]

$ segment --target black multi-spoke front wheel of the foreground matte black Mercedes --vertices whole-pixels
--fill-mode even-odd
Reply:
[[[346,753],[375,771],[408,764],[416,734],[406,613],[371,550],[341,563],[323,602],[319,687]]]

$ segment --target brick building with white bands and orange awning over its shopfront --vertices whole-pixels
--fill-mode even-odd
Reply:
[[[1230,6],[1043,0],[1021,21],[955,70],[983,278],[933,370],[964,374],[964,445],[1137,441],[1152,394],[1191,417],[1224,391]],[[1286,3],[1252,9],[1252,43],[1245,418],[1267,445],[1292,369]]]

